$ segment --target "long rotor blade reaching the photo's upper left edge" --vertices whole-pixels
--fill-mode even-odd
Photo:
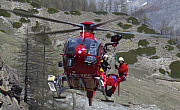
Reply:
[[[26,13],[26,12],[19,11],[19,10],[7,10],[7,9],[0,9],[0,10],[25,15],[25,16],[28,16],[28,17],[39,18],[39,19],[43,19],[43,20],[47,20],[47,21],[51,21],[51,22],[63,23],[63,24],[69,24],[69,25],[73,25],[73,26],[83,27],[83,24],[78,24],[78,23],[72,23],[72,22],[67,22],[67,21],[60,21],[60,20],[56,20],[56,19],[46,18],[46,17],[33,15],[31,13]]]

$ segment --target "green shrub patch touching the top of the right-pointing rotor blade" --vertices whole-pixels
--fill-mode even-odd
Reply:
[[[137,31],[140,33],[145,32],[147,34],[159,34],[154,29],[150,29],[146,24],[142,24],[142,26],[138,27]]]

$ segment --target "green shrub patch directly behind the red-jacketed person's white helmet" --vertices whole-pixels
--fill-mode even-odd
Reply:
[[[120,53],[116,53],[117,58],[119,57],[124,57],[125,61],[128,64],[134,64],[138,61],[136,54],[131,53],[131,52],[120,52]]]

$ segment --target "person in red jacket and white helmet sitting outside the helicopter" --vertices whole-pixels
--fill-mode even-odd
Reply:
[[[107,96],[111,97],[112,94],[114,94],[116,87],[119,85],[119,83],[121,81],[125,81],[126,80],[126,76],[127,76],[127,72],[128,72],[128,64],[124,63],[124,58],[123,57],[119,57],[118,59],[119,62],[119,67],[117,65],[115,65],[115,68],[118,70],[119,76],[116,79],[116,82],[114,83],[114,85],[112,85],[112,88],[106,91]]]

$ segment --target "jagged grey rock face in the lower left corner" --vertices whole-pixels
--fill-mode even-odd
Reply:
[[[1,59],[1,57],[0,57]],[[3,64],[3,61],[0,60],[0,64]],[[15,76],[14,73],[7,73],[7,66],[1,65],[0,68],[0,110],[20,110],[19,102],[20,102],[20,93],[22,88],[20,88],[17,83],[13,83],[11,80],[12,76]],[[17,77],[17,76],[16,76]],[[17,79],[14,79],[17,80]],[[17,85],[18,90],[17,93],[13,89],[15,89],[15,85]],[[16,88],[17,88],[16,87]],[[16,93],[14,93],[16,92]]]

